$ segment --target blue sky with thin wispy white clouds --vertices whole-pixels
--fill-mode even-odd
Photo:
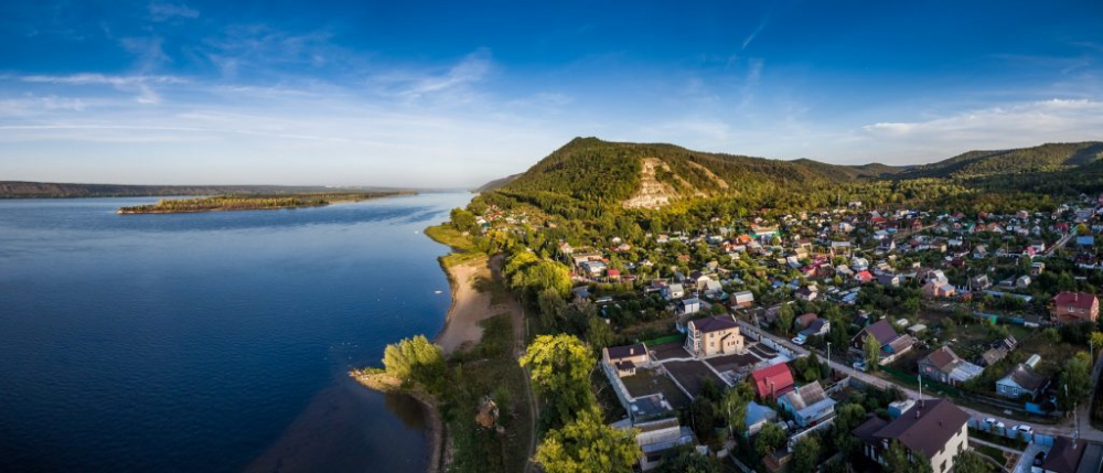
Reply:
[[[685,3],[2,2],[0,180],[470,186],[576,136],[891,164],[1103,139],[1103,2]]]

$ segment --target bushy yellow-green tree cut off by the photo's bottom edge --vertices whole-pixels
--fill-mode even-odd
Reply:
[[[575,421],[548,431],[535,460],[548,473],[629,473],[642,454],[634,429],[606,426],[597,407],[590,407]]]

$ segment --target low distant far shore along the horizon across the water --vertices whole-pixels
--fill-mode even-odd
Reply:
[[[325,187],[290,185],[126,185],[0,181],[0,198],[146,197],[223,194],[301,194],[334,191],[394,191],[384,187]]]

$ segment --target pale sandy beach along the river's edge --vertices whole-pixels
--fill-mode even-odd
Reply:
[[[490,265],[491,260],[483,258],[445,268],[452,286],[452,307],[448,310],[445,327],[433,342],[446,355],[478,343],[483,331],[479,322],[508,311],[506,304],[495,305],[489,291],[475,288],[480,278],[493,277]]]

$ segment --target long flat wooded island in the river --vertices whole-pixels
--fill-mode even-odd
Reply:
[[[178,214],[219,211],[267,211],[320,207],[334,202],[360,202],[370,198],[411,195],[413,192],[342,192],[309,194],[240,194],[195,198],[162,198],[156,204],[119,207],[119,214]]]

